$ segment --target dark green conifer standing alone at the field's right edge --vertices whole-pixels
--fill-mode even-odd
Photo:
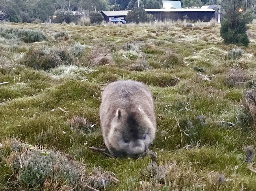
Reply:
[[[247,0],[222,0],[221,7],[223,9],[221,37],[224,43],[247,46],[249,38],[246,24],[254,17]]]

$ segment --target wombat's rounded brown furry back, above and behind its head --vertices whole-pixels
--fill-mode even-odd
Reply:
[[[129,112],[141,106],[145,113],[155,121],[154,102],[148,88],[141,82],[132,80],[117,81],[107,85],[102,93],[100,120],[111,120],[118,108]]]

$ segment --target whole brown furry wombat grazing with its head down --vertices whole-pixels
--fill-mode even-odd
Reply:
[[[148,88],[132,80],[107,85],[102,93],[100,123],[112,155],[145,153],[156,133],[154,102]]]

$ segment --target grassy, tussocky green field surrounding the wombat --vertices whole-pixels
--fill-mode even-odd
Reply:
[[[0,23],[0,190],[256,190],[256,25],[248,47],[219,30]],[[126,79],[154,97],[156,162],[89,149],[103,87]]]

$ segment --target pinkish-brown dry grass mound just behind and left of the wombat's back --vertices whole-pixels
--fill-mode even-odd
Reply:
[[[87,55],[91,65],[113,65],[114,60],[109,53],[109,49],[106,46],[98,45],[91,49]]]

